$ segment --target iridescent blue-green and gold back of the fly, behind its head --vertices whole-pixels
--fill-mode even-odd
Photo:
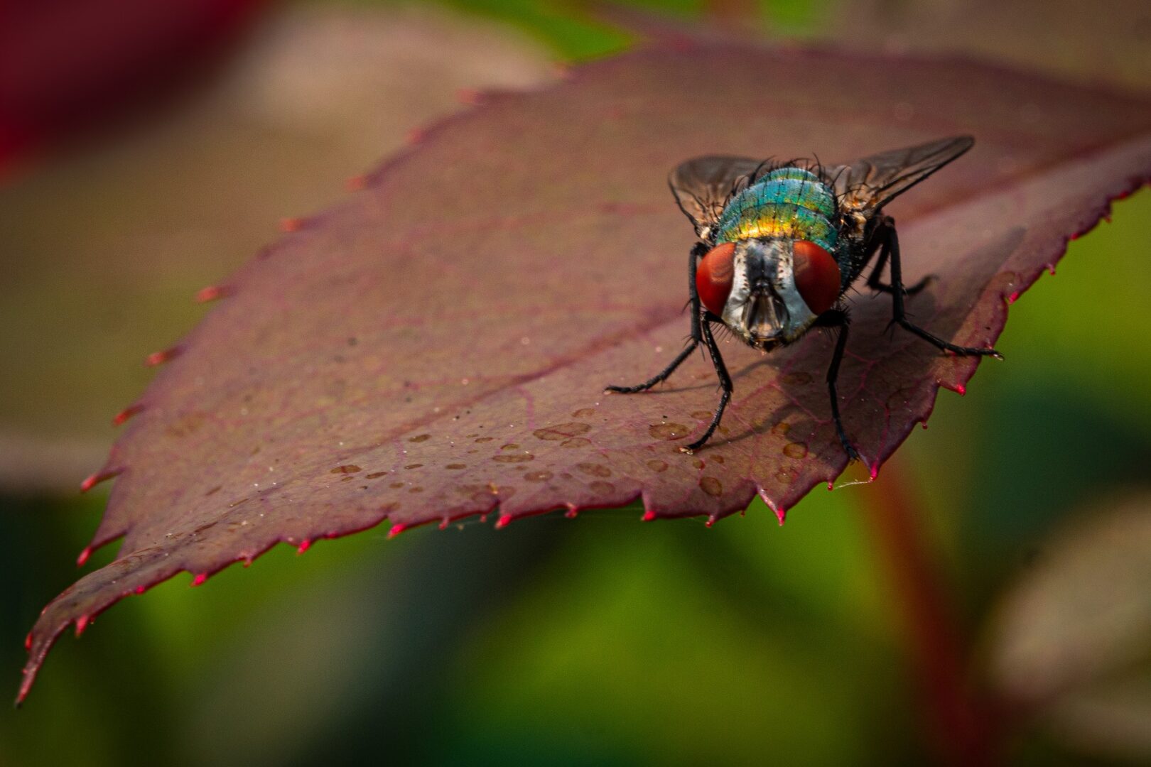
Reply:
[[[809,239],[831,252],[838,230],[831,224],[836,197],[815,174],[776,168],[737,194],[716,225],[716,244],[750,237]]]

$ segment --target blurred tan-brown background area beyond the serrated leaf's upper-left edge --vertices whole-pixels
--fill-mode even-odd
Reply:
[[[474,20],[294,5],[203,92],[5,179],[0,485],[70,492],[151,377],[145,355],[203,316],[197,291],[459,110],[458,92],[550,71],[542,51]]]

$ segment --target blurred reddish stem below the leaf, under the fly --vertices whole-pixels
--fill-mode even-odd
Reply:
[[[958,626],[954,595],[933,566],[937,558],[920,523],[906,463],[886,463],[882,484],[863,498],[871,535],[904,613],[930,742],[939,764],[997,764],[993,708],[967,678],[968,642]]]

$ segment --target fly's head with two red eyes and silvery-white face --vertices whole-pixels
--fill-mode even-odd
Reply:
[[[716,245],[700,261],[700,301],[744,343],[788,344],[839,298],[839,264],[810,240],[752,238]]]

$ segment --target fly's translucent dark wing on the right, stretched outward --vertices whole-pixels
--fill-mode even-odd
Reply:
[[[953,136],[824,168],[823,174],[833,183],[840,207],[870,216],[974,144],[970,136]]]

